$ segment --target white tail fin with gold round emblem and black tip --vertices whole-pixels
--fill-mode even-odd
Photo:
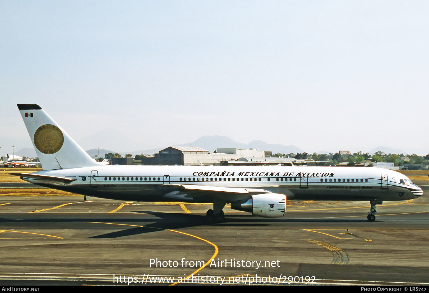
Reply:
[[[17,105],[43,170],[98,165],[39,105]]]

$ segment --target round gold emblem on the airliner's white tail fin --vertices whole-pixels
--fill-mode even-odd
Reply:
[[[64,143],[64,135],[61,130],[52,124],[40,126],[34,132],[34,145],[44,154],[58,152]]]

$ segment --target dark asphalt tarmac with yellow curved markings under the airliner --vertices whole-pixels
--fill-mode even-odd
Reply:
[[[284,218],[275,219],[226,206],[227,221],[207,224],[207,204],[2,196],[0,285],[427,286],[423,190],[378,205],[374,222],[366,219],[368,202],[288,201]]]

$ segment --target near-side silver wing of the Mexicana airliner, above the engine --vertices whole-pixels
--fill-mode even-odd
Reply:
[[[207,185],[164,184],[163,186],[176,189],[185,197],[218,197],[227,202],[249,198],[253,194],[271,193],[262,188],[218,187]]]

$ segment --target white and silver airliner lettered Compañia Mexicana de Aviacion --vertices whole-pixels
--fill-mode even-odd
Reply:
[[[95,162],[38,105],[18,104],[43,170],[12,173],[28,182],[88,196],[133,201],[213,203],[209,221],[231,209],[284,216],[286,197],[301,200],[366,200],[376,204],[420,197],[421,188],[401,173],[374,167],[112,166]]]

